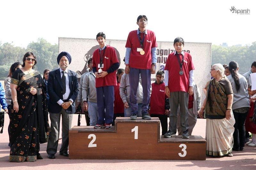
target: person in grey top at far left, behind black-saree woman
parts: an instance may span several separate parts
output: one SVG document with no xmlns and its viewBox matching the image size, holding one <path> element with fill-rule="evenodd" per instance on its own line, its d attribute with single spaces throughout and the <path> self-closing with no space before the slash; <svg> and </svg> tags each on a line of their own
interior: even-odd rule
<svg viewBox="0 0 256 170">
<path fill-rule="evenodd" d="M 10 108 L 11 108 L 11 101 L 12 101 L 12 90 L 11 90 L 11 87 L 10 87 L 11 79 L 12 79 L 12 74 L 17 69 L 20 69 L 20 68 L 22 68 L 20 62 L 13 63 L 12 66 L 10 67 L 10 69 L 9 69 L 8 76 L 4 80 L 5 99 L 6 99 L 6 103 L 7 103 L 7 109 L 8 109 L 9 118 L 10 118 L 10 113 L 11 113 L 11 109 Z M 10 124 L 8 126 L 8 134 L 9 134 L 9 138 L 10 138 Z M 10 143 L 8 144 L 8 146 L 11 146 Z"/>
</svg>

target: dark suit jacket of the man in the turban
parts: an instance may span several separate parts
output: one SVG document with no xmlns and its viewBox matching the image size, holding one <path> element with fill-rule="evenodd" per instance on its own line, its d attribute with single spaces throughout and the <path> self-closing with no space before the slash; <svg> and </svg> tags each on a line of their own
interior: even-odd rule
<svg viewBox="0 0 256 170">
<path fill-rule="evenodd" d="M 57 103 L 60 99 L 63 100 L 62 95 L 62 83 L 60 78 L 60 69 L 51 71 L 49 73 L 48 78 L 48 93 L 50 96 L 50 100 L 48 103 L 48 111 L 49 113 L 60 113 L 62 107 Z M 77 74 L 74 71 L 68 70 L 68 81 L 69 81 L 69 89 L 70 94 L 68 96 L 68 100 L 72 99 L 74 102 L 71 106 L 66 110 L 68 113 L 75 113 L 75 101 L 78 94 L 78 81 Z"/>
</svg>

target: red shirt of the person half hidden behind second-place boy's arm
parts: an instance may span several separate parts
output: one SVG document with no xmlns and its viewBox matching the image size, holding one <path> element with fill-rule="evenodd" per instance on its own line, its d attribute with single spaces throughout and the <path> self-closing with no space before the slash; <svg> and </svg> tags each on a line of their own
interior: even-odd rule
<svg viewBox="0 0 256 170">
<path fill-rule="evenodd" d="M 119 87 L 120 87 L 120 83 L 117 82 L 117 85 L 114 86 L 114 91 L 115 91 L 114 114 L 124 113 L 124 102 L 121 99 Z"/>
</svg>

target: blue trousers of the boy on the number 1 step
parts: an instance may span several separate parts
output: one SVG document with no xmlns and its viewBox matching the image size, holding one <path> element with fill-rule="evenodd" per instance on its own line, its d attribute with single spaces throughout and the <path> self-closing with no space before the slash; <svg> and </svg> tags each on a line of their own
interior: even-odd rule
<svg viewBox="0 0 256 170">
<path fill-rule="evenodd" d="M 137 69 L 130 68 L 129 81 L 130 81 L 130 102 L 132 106 L 132 114 L 138 114 L 137 103 L 137 89 L 139 86 L 139 79 L 141 77 L 141 85 L 143 89 L 142 100 L 142 115 L 148 113 L 148 105 L 150 102 L 150 86 L 151 86 L 151 72 L 150 69 Z"/>
</svg>

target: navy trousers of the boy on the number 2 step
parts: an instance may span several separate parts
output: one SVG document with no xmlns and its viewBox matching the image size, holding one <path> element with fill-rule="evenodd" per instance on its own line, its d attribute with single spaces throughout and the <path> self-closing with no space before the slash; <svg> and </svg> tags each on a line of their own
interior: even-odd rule
<svg viewBox="0 0 256 170">
<path fill-rule="evenodd" d="M 111 124 L 114 115 L 114 86 L 97 87 L 97 124 Z"/>
</svg>

